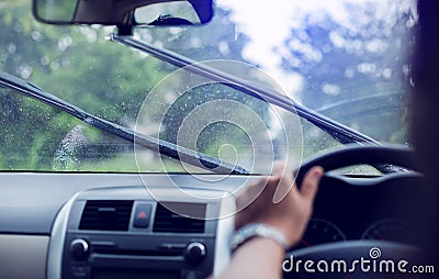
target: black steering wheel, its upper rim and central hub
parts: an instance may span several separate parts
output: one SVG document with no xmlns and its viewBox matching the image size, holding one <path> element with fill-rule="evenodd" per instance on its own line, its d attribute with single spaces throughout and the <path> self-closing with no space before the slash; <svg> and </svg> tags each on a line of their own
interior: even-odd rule
<svg viewBox="0 0 439 279">
<path fill-rule="evenodd" d="M 296 182 L 297 186 L 301 185 L 304 175 L 313 167 L 313 166 L 322 166 L 325 169 L 325 177 L 328 179 L 331 176 L 327 174 L 327 171 L 335 170 L 342 167 L 349 167 L 354 165 L 372 165 L 372 166 L 383 166 L 385 165 L 387 169 L 395 168 L 395 166 L 403 167 L 403 175 L 391 175 L 390 177 L 396 177 L 396 179 L 404 176 L 420 176 L 418 174 L 409 172 L 407 169 L 417 170 L 417 166 L 414 160 L 414 150 L 408 147 L 402 146 L 348 146 L 347 148 L 333 150 L 329 153 L 325 153 L 323 155 L 316 156 L 312 159 L 306 160 L 302 167 L 297 171 Z M 398 168 L 395 168 L 398 169 Z M 399 168 L 401 170 L 401 168 Z M 325 177 L 320 182 L 320 190 L 325 187 Z M 335 176 L 337 177 L 337 176 Z M 338 176 L 341 177 L 341 176 Z M 384 175 L 384 177 L 387 177 Z M 333 177 L 334 178 L 334 177 Z M 340 178 L 342 179 L 342 178 Z M 371 182 L 368 182 L 365 186 L 375 186 L 375 183 L 382 183 L 383 179 L 370 179 Z M 342 181 L 342 180 L 338 180 Z M 385 180 L 384 180 L 385 181 Z M 354 180 L 349 180 L 349 183 L 356 186 Z M 360 182 L 358 186 L 364 186 L 364 180 Z M 326 189 L 327 190 L 327 189 Z M 394 259 L 395 265 L 398 260 L 412 260 L 416 261 L 421 252 L 419 248 L 415 246 L 395 243 L 395 242 L 381 242 L 381 241 L 368 241 L 368 239 L 356 239 L 356 241 L 346 241 L 338 243 L 328 243 L 320 244 L 312 247 L 305 247 L 296 250 L 292 250 L 285 254 L 284 265 L 283 267 L 283 277 L 284 278 L 309 278 L 314 276 L 314 278 L 395 278 L 395 275 L 401 276 L 401 274 L 383 274 L 383 272 L 363 272 L 360 266 L 354 269 L 352 272 L 349 272 L 349 266 L 354 260 L 361 260 L 361 258 L 365 260 L 374 259 L 376 255 L 372 255 L 372 253 L 383 253 L 385 258 Z M 379 258 L 375 258 L 379 260 Z M 306 260 L 312 260 L 314 263 L 314 272 L 309 272 L 305 270 Z M 340 260 L 345 260 L 348 264 L 348 270 L 344 272 L 342 270 L 335 270 L 335 272 L 318 272 L 316 270 L 316 264 L 319 260 L 324 260 L 330 264 L 336 263 L 336 265 L 340 265 Z M 294 263 L 292 263 L 294 261 Z M 300 267 L 297 267 L 301 265 Z M 380 263 L 380 261 L 379 261 Z M 360 263 L 358 263 L 360 264 Z M 290 266 L 289 266 L 290 265 Z M 323 266 L 324 267 L 324 266 Z M 311 268 L 311 269 L 313 269 Z M 341 267 L 342 268 L 342 267 Z M 291 269 L 291 270 L 290 270 Z M 334 271 L 334 270 L 333 270 Z M 338 272 L 337 272 L 338 271 Z M 389 277 L 391 276 L 391 277 Z M 392 277 L 393 276 L 393 277 Z M 398 278 L 398 277 L 397 277 Z"/>
</svg>

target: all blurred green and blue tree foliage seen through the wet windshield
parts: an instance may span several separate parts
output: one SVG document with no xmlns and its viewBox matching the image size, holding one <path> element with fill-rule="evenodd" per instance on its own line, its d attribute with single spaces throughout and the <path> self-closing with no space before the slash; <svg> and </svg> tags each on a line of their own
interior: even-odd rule
<svg viewBox="0 0 439 279">
<path fill-rule="evenodd" d="M 135 35 L 195 60 L 246 62 L 243 49 L 251 40 L 235 32 L 232 19 L 230 11 L 216 10 L 212 23 L 190 32 L 185 32 L 188 27 L 145 29 L 136 31 Z M 291 30 L 291 37 L 284 42 L 290 57 L 283 59 L 280 70 L 304 77 L 300 97 L 305 105 L 379 141 L 405 143 L 408 113 L 404 109 L 402 80 L 406 77 L 407 65 L 397 55 L 405 54 L 401 47 L 410 35 L 408 20 L 409 14 L 403 14 L 391 26 L 380 21 L 369 22 L 359 33 L 330 19 L 309 20 L 305 30 Z M 150 89 L 176 70 L 151 56 L 109 42 L 105 37 L 112 32 L 111 27 L 38 23 L 32 16 L 30 0 L 0 0 L 0 24 L 1 71 L 29 80 L 94 115 L 128 127 L 134 127 Z M 390 30 L 389 34 L 380 32 L 384 27 Z M 335 33 L 341 34 L 348 46 L 335 45 L 330 38 Z M 322 57 L 313 60 L 303 49 L 294 48 L 301 40 L 301 44 L 317 49 Z M 384 53 L 349 48 L 357 41 L 365 45 L 376 40 L 387 43 Z M 294 64 L 297 60 L 300 64 Z M 166 96 L 160 98 L 162 100 L 157 101 L 166 101 Z M 262 101 L 225 86 L 207 85 L 173 103 L 161 123 L 166 129 L 160 137 L 176 143 L 178 129 L 188 113 L 212 100 L 240 102 L 270 122 L 268 107 Z M 148 116 L 155 119 L 155 114 L 160 113 L 159 105 L 151 105 Z M 0 169 L 136 171 L 137 168 L 131 143 L 5 88 L 0 88 Z M 245 129 L 246 133 L 255 132 L 251 125 Z M 304 157 L 339 146 L 328 134 L 305 121 L 303 131 Z M 216 123 L 193 136 L 198 136 L 198 150 L 216 157 L 228 144 L 235 146 L 237 154 L 252 152 L 255 146 L 246 133 L 238 126 Z M 224 149 L 223 155 L 233 159 L 235 150 Z M 146 169 L 162 171 L 155 156 Z M 181 166 L 166 159 L 165 169 L 178 171 Z"/>
</svg>

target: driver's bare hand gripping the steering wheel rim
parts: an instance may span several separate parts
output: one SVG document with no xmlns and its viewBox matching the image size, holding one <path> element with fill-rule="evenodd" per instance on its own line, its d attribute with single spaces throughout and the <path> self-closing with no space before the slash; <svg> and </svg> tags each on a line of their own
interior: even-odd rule
<svg viewBox="0 0 439 279">
<path fill-rule="evenodd" d="M 290 245 L 296 244 L 309 221 L 323 174 L 322 167 L 313 167 L 306 172 L 299 190 L 293 172 L 288 170 L 284 164 L 277 163 L 271 177 L 249 185 L 238 194 L 236 205 L 237 209 L 241 209 L 251 201 L 249 199 L 255 199 L 255 194 L 262 191 L 254 202 L 237 213 L 235 228 L 249 223 L 264 223 L 283 233 Z M 273 199 L 277 191 L 285 193 L 278 203 Z"/>
</svg>

